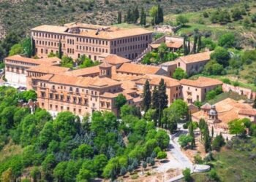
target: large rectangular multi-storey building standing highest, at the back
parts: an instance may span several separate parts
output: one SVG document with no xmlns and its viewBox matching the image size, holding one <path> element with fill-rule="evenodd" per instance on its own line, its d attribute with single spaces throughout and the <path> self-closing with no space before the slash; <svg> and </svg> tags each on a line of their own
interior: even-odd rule
<svg viewBox="0 0 256 182">
<path fill-rule="evenodd" d="M 152 41 L 152 31 L 143 28 L 116 28 L 112 26 L 69 23 L 64 26 L 40 25 L 32 28 L 36 54 L 47 58 L 50 52 L 80 58 L 86 55 L 91 60 L 102 60 L 109 54 L 135 59 Z"/>
</svg>

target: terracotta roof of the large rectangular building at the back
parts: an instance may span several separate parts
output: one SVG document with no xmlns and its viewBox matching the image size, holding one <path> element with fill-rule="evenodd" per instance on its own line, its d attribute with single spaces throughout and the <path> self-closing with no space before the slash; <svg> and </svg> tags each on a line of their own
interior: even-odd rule
<svg viewBox="0 0 256 182">
<path fill-rule="evenodd" d="M 53 33 L 64 33 L 69 35 L 74 35 L 75 33 L 68 33 L 69 28 L 84 28 L 86 31 L 81 31 L 79 34 L 75 34 L 78 36 L 99 38 L 99 39 L 118 39 L 127 36 L 139 36 L 141 34 L 150 34 L 152 31 L 148 31 L 143 28 L 116 28 L 116 27 L 108 27 L 106 31 L 99 31 L 97 33 L 97 28 L 104 28 L 104 26 L 100 25 L 89 25 L 83 23 L 77 23 L 76 25 L 66 24 L 65 26 L 56 26 L 56 25 L 40 25 L 35 28 L 32 28 L 32 31 L 45 31 L 45 32 L 53 32 Z"/>
</svg>

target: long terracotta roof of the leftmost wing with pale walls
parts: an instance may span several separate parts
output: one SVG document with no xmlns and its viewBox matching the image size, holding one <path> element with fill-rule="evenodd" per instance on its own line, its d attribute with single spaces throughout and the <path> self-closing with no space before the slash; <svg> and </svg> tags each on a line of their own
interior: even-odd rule
<svg viewBox="0 0 256 182">
<path fill-rule="evenodd" d="M 53 64 L 58 64 L 60 62 L 60 59 L 56 58 L 56 57 L 55 58 L 34 59 L 34 58 L 22 57 L 20 55 L 12 55 L 7 58 L 4 58 L 4 60 L 15 60 L 15 61 L 22 62 L 22 63 L 33 63 L 33 64 L 37 64 L 37 65 L 41 65 L 41 64 L 53 65 Z"/>
</svg>

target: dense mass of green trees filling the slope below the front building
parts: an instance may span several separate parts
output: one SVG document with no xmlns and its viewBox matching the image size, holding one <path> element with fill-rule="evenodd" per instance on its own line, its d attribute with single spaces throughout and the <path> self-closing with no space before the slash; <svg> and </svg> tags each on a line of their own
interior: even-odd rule
<svg viewBox="0 0 256 182">
<path fill-rule="evenodd" d="M 89 122 L 89 116 L 80 119 L 62 112 L 53 119 L 45 110 L 30 114 L 17 106 L 18 100 L 30 98 L 35 98 L 32 91 L 0 87 L 0 149 L 10 142 L 22 146 L 20 154 L 1 159 L 2 180 L 19 178 L 25 170 L 36 180 L 114 179 L 165 157 L 169 136 L 156 130 L 154 122 L 140 119 L 133 106 L 121 106 L 121 120 L 111 112 L 96 111 Z"/>
</svg>

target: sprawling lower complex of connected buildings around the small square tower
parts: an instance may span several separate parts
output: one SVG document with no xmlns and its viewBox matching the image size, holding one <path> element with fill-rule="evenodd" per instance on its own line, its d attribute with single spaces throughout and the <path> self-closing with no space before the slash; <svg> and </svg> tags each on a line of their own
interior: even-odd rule
<svg viewBox="0 0 256 182">
<path fill-rule="evenodd" d="M 154 90 L 160 80 L 164 79 L 168 105 L 179 98 L 184 98 L 188 103 L 203 100 L 204 94 L 201 92 L 222 84 L 215 79 L 208 82 L 207 78 L 191 81 L 198 84 L 201 79 L 205 82 L 207 79 L 208 83 L 194 85 L 198 87 L 199 96 L 188 100 L 187 95 L 184 94 L 187 92 L 187 84 L 184 80 L 180 82 L 170 78 L 161 66 L 130 63 L 131 60 L 118 55 L 108 55 L 99 66 L 75 70 L 59 66 L 58 58 L 31 59 L 17 55 L 5 58 L 4 61 L 8 82 L 15 82 L 8 74 L 15 74 L 15 78 L 22 79 L 28 90 L 33 89 L 37 92 L 39 106 L 53 115 L 60 111 L 72 111 L 80 116 L 91 114 L 93 111 L 116 113 L 115 99 L 118 94 L 123 94 L 128 104 L 140 107 L 146 80 L 151 90 Z M 15 70 L 23 70 L 23 72 L 17 74 Z M 194 87 L 191 86 L 191 90 Z"/>
</svg>

